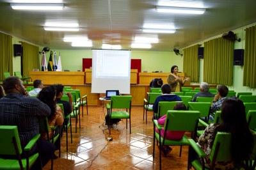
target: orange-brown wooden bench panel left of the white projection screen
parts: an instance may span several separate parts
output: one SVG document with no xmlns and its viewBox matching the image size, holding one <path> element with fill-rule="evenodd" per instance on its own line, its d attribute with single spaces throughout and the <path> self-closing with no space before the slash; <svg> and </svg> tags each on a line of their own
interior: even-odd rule
<svg viewBox="0 0 256 170">
<path fill-rule="evenodd" d="M 84 72 L 29 72 L 29 77 L 41 79 L 44 84 L 84 84 Z"/>
</svg>

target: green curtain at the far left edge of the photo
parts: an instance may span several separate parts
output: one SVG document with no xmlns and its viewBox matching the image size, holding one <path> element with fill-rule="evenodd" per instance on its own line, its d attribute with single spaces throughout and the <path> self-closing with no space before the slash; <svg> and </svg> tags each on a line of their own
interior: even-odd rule
<svg viewBox="0 0 256 170">
<path fill-rule="evenodd" d="M 4 79 L 4 72 L 13 73 L 12 49 L 12 36 L 0 33 L 0 80 Z"/>
</svg>

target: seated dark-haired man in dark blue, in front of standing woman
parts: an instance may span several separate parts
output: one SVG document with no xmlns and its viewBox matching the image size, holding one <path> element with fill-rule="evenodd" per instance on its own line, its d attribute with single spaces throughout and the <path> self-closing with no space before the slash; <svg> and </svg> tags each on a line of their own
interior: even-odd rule
<svg viewBox="0 0 256 170">
<path fill-rule="evenodd" d="M 161 87 L 161 90 L 163 92 L 163 95 L 160 95 L 159 97 L 156 98 L 156 101 L 154 102 L 154 105 L 153 105 L 154 113 L 158 112 L 158 103 L 161 101 L 168 101 L 168 102 L 181 101 L 181 98 L 179 96 L 171 94 L 171 87 L 169 84 L 163 84 L 163 86 Z"/>
</svg>

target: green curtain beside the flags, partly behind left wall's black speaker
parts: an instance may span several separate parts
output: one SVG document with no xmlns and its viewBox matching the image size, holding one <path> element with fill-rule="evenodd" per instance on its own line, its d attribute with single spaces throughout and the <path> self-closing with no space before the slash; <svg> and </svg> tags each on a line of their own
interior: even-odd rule
<svg viewBox="0 0 256 170">
<path fill-rule="evenodd" d="M 22 42 L 22 67 L 23 77 L 28 77 L 29 71 L 32 71 L 34 68 L 40 68 L 39 47 Z"/>
</svg>

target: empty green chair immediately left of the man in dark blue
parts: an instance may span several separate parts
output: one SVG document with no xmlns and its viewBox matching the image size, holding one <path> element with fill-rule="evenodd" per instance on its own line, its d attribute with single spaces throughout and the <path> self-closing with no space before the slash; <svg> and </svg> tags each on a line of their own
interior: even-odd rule
<svg viewBox="0 0 256 170">
<path fill-rule="evenodd" d="M 147 93 L 147 99 L 144 98 L 144 109 L 143 109 L 143 121 L 144 121 L 144 115 L 146 111 L 146 123 L 147 123 L 147 112 L 153 111 L 153 104 L 156 101 L 156 98 L 159 97 L 161 93 Z"/>
</svg>

